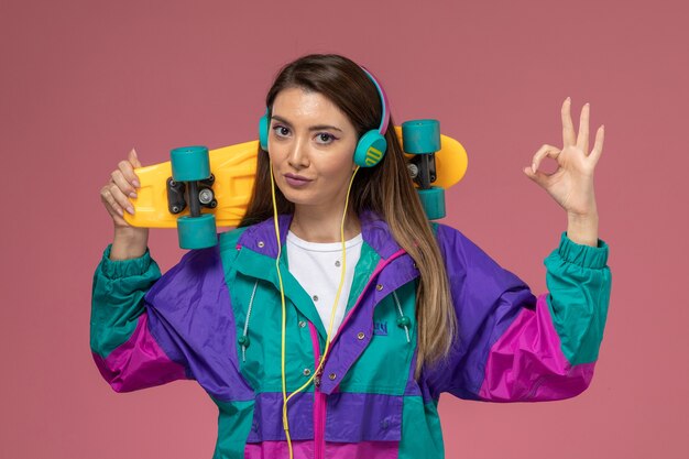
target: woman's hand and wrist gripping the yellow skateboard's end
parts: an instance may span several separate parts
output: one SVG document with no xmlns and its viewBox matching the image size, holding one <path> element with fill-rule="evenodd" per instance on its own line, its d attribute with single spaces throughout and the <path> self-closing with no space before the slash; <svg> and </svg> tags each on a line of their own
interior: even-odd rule
<svg viewBox="0 0 689 459">
<path fill-rule="evenodd" d="M 100 200 L 114 225 L 114 239 L 110 251 L 111 260 L 127 260 L 145 253 L 149 242 L 149 229 L 132 227 L 124 220 L 124 212 L 134 214 L 129 198 L 136 197 L 139 177 L 134 168 L 141 167 L 136 151 L 132 149 L 128 159 L 118 164 L 110 174 L 110 181 L 100 188 Z"/>
</svg>

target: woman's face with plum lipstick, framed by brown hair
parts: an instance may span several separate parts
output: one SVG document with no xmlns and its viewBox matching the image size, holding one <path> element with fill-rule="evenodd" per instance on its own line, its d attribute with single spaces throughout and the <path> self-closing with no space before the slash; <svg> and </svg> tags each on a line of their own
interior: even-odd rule
<svg viewBox="0 0 689 459">
<path fill-rule="evenodd" d="M 282 90 L 269 132 L 275 184 L 297 207 L 340 208 L 356 168 L 358 140 L 347 116 L 321 94 Z"/>
</svg>

